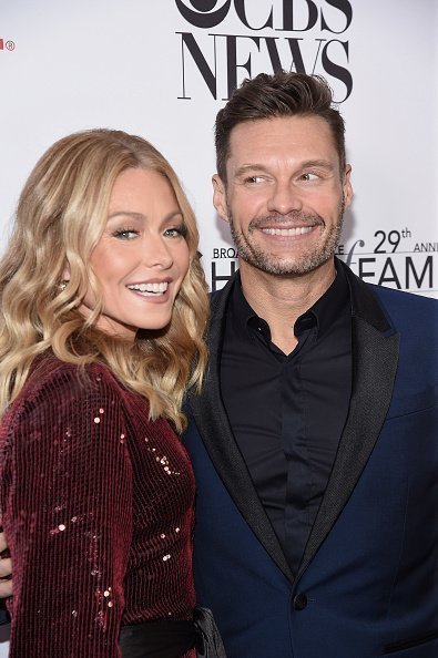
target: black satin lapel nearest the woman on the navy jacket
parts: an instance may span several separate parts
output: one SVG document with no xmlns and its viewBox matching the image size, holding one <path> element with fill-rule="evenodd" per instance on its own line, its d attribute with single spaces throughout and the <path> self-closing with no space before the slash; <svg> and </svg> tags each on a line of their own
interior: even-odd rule
<svg viewBox="0 0 438 658">
<path fill-rule="evenodd" d="M 247 466 L 237 448 L 221 398 L 220 354 L 226 295 L 214 308 L 208 332 L 210 366 L 200 397 L 190 395 L 189 405 L 198 432 L 222 482 L 252 531 L 284 575 L 293 579 L 283 549 L 258 498 Z"/>
</svg>

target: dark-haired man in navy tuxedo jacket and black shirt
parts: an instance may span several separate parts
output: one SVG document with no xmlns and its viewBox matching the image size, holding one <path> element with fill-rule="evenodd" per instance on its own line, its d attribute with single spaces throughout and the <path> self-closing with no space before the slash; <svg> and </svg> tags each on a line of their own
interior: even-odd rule
<svg viewBox="0 0 438 658">
<path fill-rule="evenodd" d="M 438 304 L 334 256 L 352 202 L 323 80 L 261 74 L 216 120 L 240 271 L 190 399 L 195 576 L 230 658 L 438 656 Z"/>
</svg>

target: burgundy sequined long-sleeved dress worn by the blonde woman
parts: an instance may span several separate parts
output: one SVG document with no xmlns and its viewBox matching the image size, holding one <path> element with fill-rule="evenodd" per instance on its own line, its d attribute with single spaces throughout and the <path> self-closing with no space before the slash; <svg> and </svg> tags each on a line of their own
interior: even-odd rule
<svg viewBox="0 0 438 658">
<path fill-rule="evenodd" d="M 186 452 L 105 367 L 86 373 L 43 359 L 1 425 L 11 658 L 115 658 L 121 625 L 195 606 Z"/>
</svg>

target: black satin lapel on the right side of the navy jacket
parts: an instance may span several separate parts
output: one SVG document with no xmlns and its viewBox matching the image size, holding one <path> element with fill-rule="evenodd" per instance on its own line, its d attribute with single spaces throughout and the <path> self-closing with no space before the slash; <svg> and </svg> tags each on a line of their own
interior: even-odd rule
<svg viewBox="0 0 438 658">
<path fill-rule="evenodd" d="M 349 412 L 298 575 L 332 530 L 377 441 L 391 400 L 398 347 L 398 335 L 385 336 L 366 320 L 353 318 L 354 374 Z"/>
</svg>

